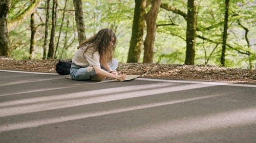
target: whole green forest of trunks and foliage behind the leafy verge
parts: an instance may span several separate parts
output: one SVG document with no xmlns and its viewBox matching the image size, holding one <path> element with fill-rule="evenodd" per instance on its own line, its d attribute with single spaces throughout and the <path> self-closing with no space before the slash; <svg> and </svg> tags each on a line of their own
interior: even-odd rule
<svg viewBox="0 0 256 143">
<path fill-rule="evenodd" d="M 256 68 L 253 0 L 2 0 L 0 53 L 71 59 L 102 28 L 122 63 Z"/>
</svg>

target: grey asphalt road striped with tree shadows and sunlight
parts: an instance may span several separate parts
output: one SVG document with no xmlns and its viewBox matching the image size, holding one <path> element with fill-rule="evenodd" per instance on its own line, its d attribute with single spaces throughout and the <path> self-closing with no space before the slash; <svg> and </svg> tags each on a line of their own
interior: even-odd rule
<svg viewBox="0 0 256 143">
<path fill-rule="evenodd" d="M 0 142 L 256 142 L 256 85 L 0 70 Z"/>
</svg>

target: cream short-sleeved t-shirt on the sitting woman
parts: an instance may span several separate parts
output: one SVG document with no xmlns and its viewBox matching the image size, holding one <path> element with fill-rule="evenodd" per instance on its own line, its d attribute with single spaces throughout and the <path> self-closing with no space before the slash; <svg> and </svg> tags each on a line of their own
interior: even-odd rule
<svg viewBox="0 0 256 143">
<path fill-rule="evenodd" d="M 98 51 L 94 52 L 94 49 L 90 48 L 90 49 L 87 49 L 86 53 L 84 53 L 86 49 L 87 49 L 86 46 L 82 46 L 81 48 L 79 48 L 78 51 L 75 53 L 74 57 L 72 58 L 72 62 L 74 62 L 76 65 L 81 67 L 100 66 L 99 52 Z"/>
</svg>

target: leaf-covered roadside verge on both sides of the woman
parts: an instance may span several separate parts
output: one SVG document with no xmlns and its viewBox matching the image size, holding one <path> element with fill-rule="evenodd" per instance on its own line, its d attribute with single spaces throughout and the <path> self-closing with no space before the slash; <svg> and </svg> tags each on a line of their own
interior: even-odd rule
<svg viewBox="0 0 256 143">
<path fill-rule="evenodd" d="M 56 73 L 55 66 L 58 61 L 13 60 L 1 57 L 0 69 Z M 139 74 L 140 77 L 256 84 L 256 70 L 218 66 L 119 63 L 117 71 L 127 75 Z"/>
</svg>

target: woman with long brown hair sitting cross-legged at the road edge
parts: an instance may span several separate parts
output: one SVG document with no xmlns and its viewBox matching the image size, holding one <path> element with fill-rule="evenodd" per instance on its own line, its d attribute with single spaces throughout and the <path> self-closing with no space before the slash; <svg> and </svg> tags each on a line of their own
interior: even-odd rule
<svg viewBox="0 0 256 143">
<path fill-rule="evenodd" d="M 105 78 L 125 79 L 126 75 L 118 75 L 118 62 L 112 59 L 115 47 L 116 35 L 110 28 L 104 28 L 93 37 L 84 40 L 72 59 L 71 78 L 94 81 L 102 81 Z"/>
</svg>

